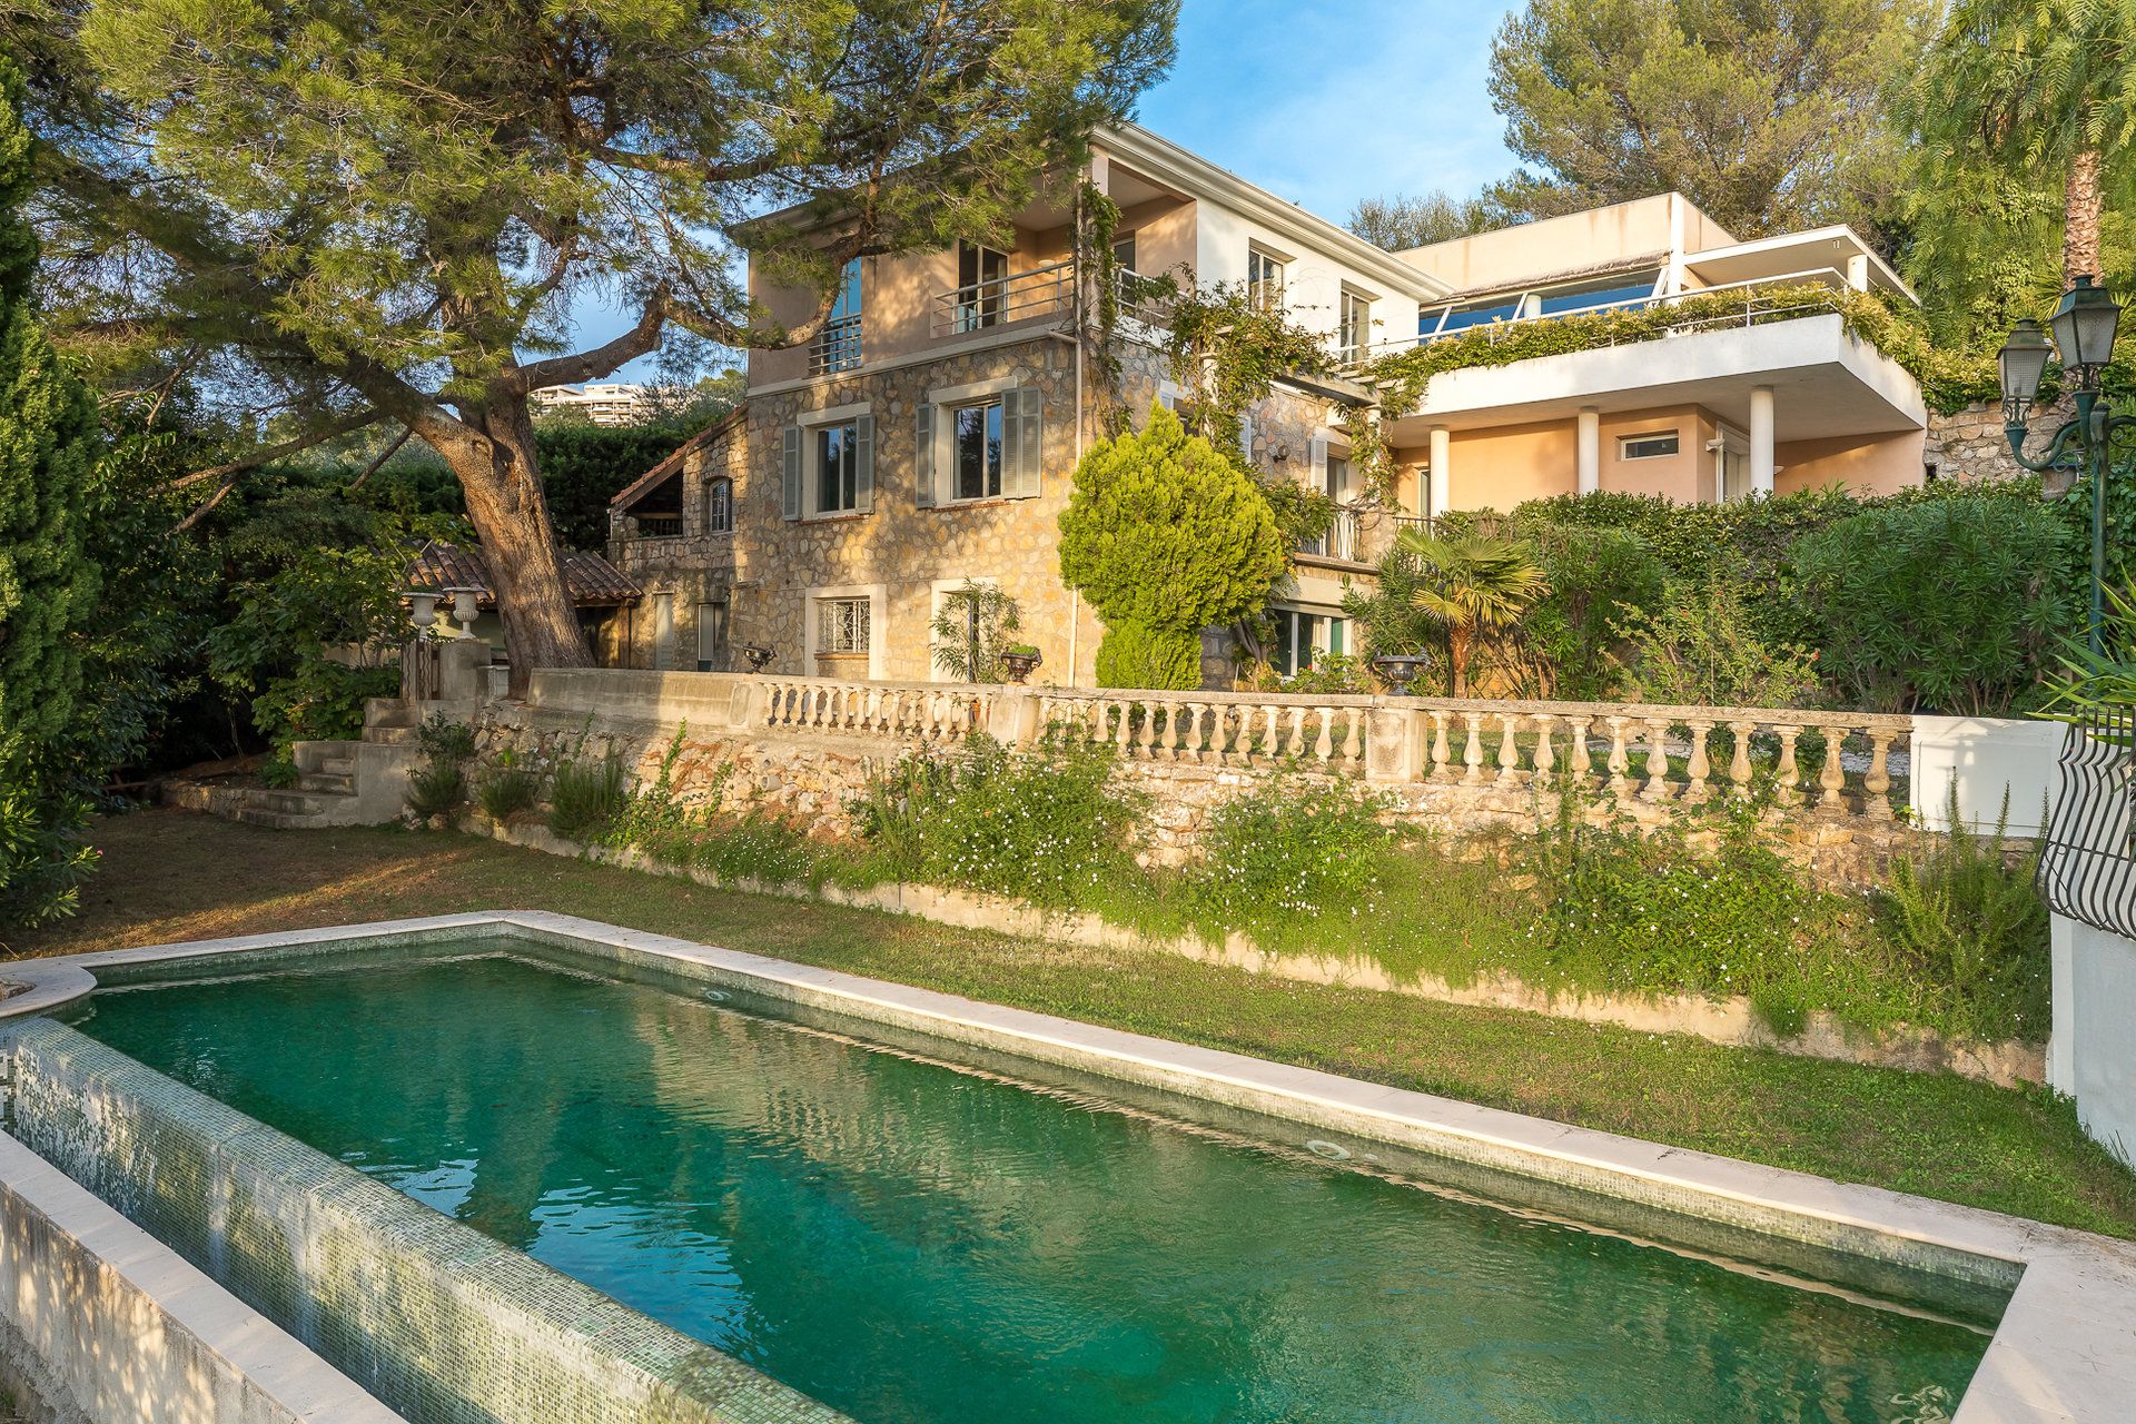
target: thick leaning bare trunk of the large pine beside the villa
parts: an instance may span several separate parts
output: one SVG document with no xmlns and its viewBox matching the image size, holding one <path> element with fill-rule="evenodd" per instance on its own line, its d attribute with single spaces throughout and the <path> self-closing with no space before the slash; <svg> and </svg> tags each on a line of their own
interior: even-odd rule
<svg viewBox="0 0 2136 1424">
<path fill-rule="evenodd" d="M 564 587 L 564 555 L 543 500 L 525 401 L 468 412 L 468 423 L 487 440 L 470 440 L 444 457 L 459 476 L 468 519 L 483 542 L 513 658 L 513 696 L 521 696 L 534 668 L 585 668 L 594 658 Z"/>
</svg>

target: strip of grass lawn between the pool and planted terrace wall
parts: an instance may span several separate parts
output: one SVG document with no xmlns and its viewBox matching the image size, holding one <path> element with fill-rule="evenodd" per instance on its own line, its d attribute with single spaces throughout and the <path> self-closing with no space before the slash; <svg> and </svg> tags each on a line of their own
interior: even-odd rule
<svg viewBox="0 0 2136 1424">
<path fill-rule="evenodd" d="M 2136 1238 L 2136 1174 L 2044 1091 L 955 931 L 446 833 L 143 811 L 96 841 L 81 916 L 17 937 L 17 954 L 553 909 Z"/>
</svg>

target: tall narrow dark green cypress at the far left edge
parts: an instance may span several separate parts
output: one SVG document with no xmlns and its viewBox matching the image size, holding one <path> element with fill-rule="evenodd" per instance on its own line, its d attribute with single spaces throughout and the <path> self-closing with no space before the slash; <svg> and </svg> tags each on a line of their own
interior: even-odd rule
<svg viewBox="0 0 2136 1424">
<path fill-rule="evenodd" d="M 98 587 L 83 549 L 96 401 L 36 322 L 21 96 L 19 70 L 0 58 L 0 929 L 64 914 L 88 863 L 66 747 L 81 694 L 75 634 Z"/>
</svg>

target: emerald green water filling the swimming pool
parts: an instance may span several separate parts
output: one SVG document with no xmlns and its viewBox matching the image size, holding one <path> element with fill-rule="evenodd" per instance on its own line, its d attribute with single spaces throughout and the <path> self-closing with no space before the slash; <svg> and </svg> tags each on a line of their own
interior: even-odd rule
<svg viewBox="0 0 2136 1424">
<path fill-rule="evenodd" d="M 502 954 L 79 1027 L 863 1424 L 1944 1420 L 1978 1328 Z"/>
</svg>

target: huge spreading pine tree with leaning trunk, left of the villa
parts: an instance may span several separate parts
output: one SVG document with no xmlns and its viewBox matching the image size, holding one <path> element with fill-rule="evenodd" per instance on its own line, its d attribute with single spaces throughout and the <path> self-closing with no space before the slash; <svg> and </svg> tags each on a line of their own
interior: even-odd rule
<svg viewBox="0 0 2136 1424">
<path fill-rule="evenodd" d="M 587 662 L 528 397 L 673 329 L 805 342 L 857 256 L 998 235 L 1171 58 L 1175 0 L 30 0 L 53 284 L 88 342 L 235 352 L 295 433 L 451 465 L 513 666 Z M 767 220 L 767 213 L 803 220 Z M 824 237 L 829 233 L 829 237 Z M 739 256 L 814 286 L 752 305 Z M 626 329 L 572 348 L 575 301 Z"/>
</svg>

